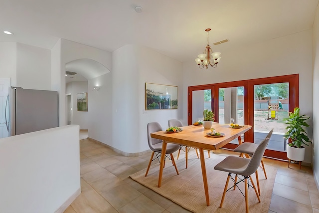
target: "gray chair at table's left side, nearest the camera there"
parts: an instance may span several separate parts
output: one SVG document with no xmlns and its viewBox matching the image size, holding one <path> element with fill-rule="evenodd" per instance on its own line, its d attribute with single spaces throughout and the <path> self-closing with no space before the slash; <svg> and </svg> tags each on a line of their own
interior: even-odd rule
<svg viewBox="0 0 319 213">
<path fill-rule="evenodd" d="M 149 173 L 152 161 L 158 159 L 159 162 L 160 162 L 161 148 L 162 148 L 163 141 L 160 140 L 160 139 L 156 139 L 156 138 L 152 138 L 151 137 L 151 133 L 158 132 L 158 131 L 162 131 L 162 128 L 161 128 L 161 126 L 160 126 L 160 124 L 158 122 L 148 123 L 148 143 L 149 143 L 149 147 L 153 151 L 153 153 L 152 153 L 152 156 L 151 156 L 151 159 L 150 159 L 149 166 L 148 166 L 148 169 L 146 171 L 145 177 Z M 175 164 L 174 157 L 173 157 L 172 153 L 174 153 L 177 150 L 179 150 L 179 148 L 180 148 L 180 145 L 178 145 L 178 144 L 167 143 L 166 152 L 165 152 L 165 156 L 164 156 L 164 165 L 163 165 L 163 167 L 165 167 L 165 160 L 166 160 L 166 158 L 169 159 L 169 157 L 168 157 L 168 155 L 169 155 L 170 159 L 171 159 L 171 162 L 172 162 L 173 166 L 175 167 L 177 175 L 178 175 L 178 170 L 177 170 L 177 167 L 176 167 L 176 164 Z M 156 154 L 156 157 L 154 157 L 154 154 Z"/>
</svg>

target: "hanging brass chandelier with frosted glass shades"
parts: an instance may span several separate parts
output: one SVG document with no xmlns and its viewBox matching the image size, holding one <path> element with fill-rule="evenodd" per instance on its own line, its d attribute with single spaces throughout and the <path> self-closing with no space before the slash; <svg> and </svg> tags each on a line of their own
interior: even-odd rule
<svg viewBox="0 0 319 213">
<path fill-rule="evenodd" d="M 206 46 L 206 49 L 204 50 L 204 53 L 197 55 L 198 58 L 195 59 L 199 68 L 206 67 L 207 69 L 208 65 L 210 65 L 211 67 L 216 67 L 221 59 L 221 57 L 219 57 L 220 52 L 213 52 L 213 50 L 209 46 L 208 32 L 210 30 L 211 30 L 210 28 L 205 29 L 205 31 L 207 32 L 207 46 Z"/>
</svg>

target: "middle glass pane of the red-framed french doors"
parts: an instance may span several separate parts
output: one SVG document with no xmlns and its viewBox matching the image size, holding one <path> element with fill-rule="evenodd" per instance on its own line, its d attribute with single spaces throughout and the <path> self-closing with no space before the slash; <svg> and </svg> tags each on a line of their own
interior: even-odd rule
<svg viewBox="0 0 319 213">
<path fill-rule="evenodd" d="M 218 94 L 219 124 L 244 125 L 244 87 L 220 88 Z M 238 139 L 230 143 L 238 144 Z"/>
</svg>

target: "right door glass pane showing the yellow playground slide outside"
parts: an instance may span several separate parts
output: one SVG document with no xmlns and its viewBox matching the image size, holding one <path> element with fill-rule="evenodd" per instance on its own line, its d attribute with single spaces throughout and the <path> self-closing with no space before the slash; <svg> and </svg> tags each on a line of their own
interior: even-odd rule
<svg viewBox="0 0 319 213">
<path fill-rule="evenodd" d="M 289 117 L 289 83 L 261 84 L 254 86 L 254 142 L 259 144 L 274 128 L 267 146 L 269 150 L 285 151 Z"/>
</svg>

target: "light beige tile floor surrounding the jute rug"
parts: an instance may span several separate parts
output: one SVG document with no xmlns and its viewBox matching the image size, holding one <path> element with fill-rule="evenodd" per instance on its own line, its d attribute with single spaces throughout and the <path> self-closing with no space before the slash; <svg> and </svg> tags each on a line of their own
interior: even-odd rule
<svg viewBox="0 0 319 213">
<path fill-rule="evenodd" d="M 214 153 L 237 155 L 223 149 Z M 65 213 L 188 213 L 129 178 L 147 168 L 150 157 L 151 151 L 139 157 L 125 157 L 102 144 L 80 140 L 82 192 Z M 319 213 L 319 192 L 310 167 L 288 168 L 287 162 L 267 158 L 264 163 L 278 168 L 269 213 Z"/>
</svg>

